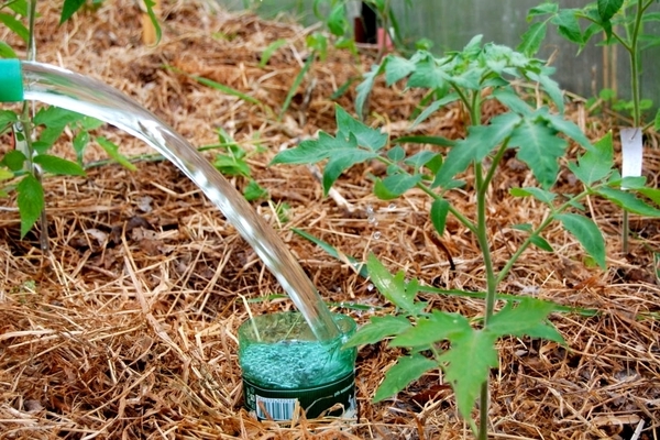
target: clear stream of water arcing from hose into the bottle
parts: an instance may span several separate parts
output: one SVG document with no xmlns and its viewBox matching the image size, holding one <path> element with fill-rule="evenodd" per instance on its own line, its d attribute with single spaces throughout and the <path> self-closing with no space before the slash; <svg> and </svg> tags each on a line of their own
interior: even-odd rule
<svg viewBox="0 0 660 440">
<path fill-rule="evenodd" d="M 134 100 L 94 78 L 55 66 L 22 64 L 24 99 L 99 119 L 146 142 L 176 165 L 222 211 L 275 275 L 321 340 L 340 336 L 316 287 L 275 231 L 199 152 Z"/>
</svg>

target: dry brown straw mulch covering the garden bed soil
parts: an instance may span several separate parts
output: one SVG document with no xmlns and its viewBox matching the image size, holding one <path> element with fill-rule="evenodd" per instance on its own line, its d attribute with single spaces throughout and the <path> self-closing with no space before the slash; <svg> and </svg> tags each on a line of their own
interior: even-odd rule
<svg viewBox="0 0 660 440">
<path fill-rule="evenodd" d="M 254 205 L 278 230 L 323 298 L 373 309 L 337 307 L 364 323 L 392 308 L 349 265 L 292 232 L 300 228 L 358 258 L 374 252 L 393 271 L 449 288 L 483 288 L 474 238 L 457 222 L 440 240 L 428 219 L 428 200 L 410 193 L 394 204 L 371 193 L 377 166 L 341 177 L 338 198 L 323 198 L 306 167 L 267 166 L 274 154 L 319 129 L 333 131 L 329 98 L 369 68 L 343 52 L 314 64 L 282 122 L 282 108 L 305 57 L 311 32 L 287 22 L 229 14 L 212 3 L 173 2 L 163 9 L 164 40 L 141 42 L 140 12 L 131 1 L 106 2 L 57 26 L 59 2 L 40 2 L 38 59 L 100 78 L 133 96 L 196 145 L 217 142 L 223 128 L 251 154 L 255 179 L 271 194 Z M 53 9 L 51 9 L 53 8 Z M 10 36 L 2 35 L 2 38 Z M 286 38 L 265 67 L 260 55 Z M 13 41 L 13 40 L 12 40 Z M 20 42 L 15 47 L 21 48 Z M 164 66 L 200 75 L 257 98 L 254 106 L 190 80 Z M 418 96 L 378 85 L 369 122 L 403 133 Z M 351 109 L 354 85 L 339 99 Z M 492 109 L 497 111 L 497 109 Z M 610 124 L 590 117 L 580 100 L 569 116 L 592 139 Z M 487 116 L 486 116 L 487 117 Z M 419 133 L 458 138 L 461 113 L 450 109 Z M 125 155 L 150 153 L 111 128 L 99 130 Z M 65 138 L 70 133 L 66 133 Z M 57 145 L 70 156 L 70 139 Z M 9 148 L 3 138 L 1 148 Z M 263 148 L 260 150 L 258 147 Z M 86 160 L 105 158 L 90 148 Z M 209 153 L 213 158 L 213 153 Z M 660 155 L 648 150 L 646 173 L 656 184 Z M 246 300 L 282 288 L 219 211 L 169 163 L 141 161 L 131 173 L 118 165 L 92 167 L 86 178 L 45 182 L 51 253 L 37 232 L 19 239 L 15 200 L 0 208 L 0 438 L 2 439 L 452 439 L 469 438 L 451 391 L 437 372 L 395 398 L 371 398 L 396 350 L 364 346 L 358 360 L 360 418 L 257 422 L 242 409 L 237 328 Z M 233 182 L 240 188 L 242 178 Z M 494 257 L 506 261 L 519 235 L 508 226 L 538 222 L 542 207 L 506 197 L 530 176 L 506 162 L 492 191 Z M 560 185 L 574 189 L 562 173 Z M 455 194 L 466 210 L 470 193 Z M 287 204 L 287 221 L 276 206 Z M 372 210 L 374 215 L 367 215 Z M 503 292 L 532 294 L 563 305 L 595 308 L 596 317 L 558 315 L 552 320 L 568 348 L 530 339 L 501 342 L 492 374 L 492 438 L 658 439 L 660 437 L 660 289 L 653 252 L 659 223 L 631 217 L 630 252 L 619 240 L 622 213 L 590 200 L 607 234 L 608 270 L 586 264 L 574 240 L 548 231 L 557 252 L 527 251 Z M 372 220 L 370 221 L 370 218 Z M 439 244 L 440 243 L 440 244 Z M 446 249 L 446 250 L 444 250 Z M 446 252 L 447 251 L 447 252 Z M 455 268 L 450 267 L 450 258 Z M 477 300 L 426 297 L 433 307 L 479 315 Z M 292 309 L 286 299 L 250 302 L 252 314 Z"/>
</svg>

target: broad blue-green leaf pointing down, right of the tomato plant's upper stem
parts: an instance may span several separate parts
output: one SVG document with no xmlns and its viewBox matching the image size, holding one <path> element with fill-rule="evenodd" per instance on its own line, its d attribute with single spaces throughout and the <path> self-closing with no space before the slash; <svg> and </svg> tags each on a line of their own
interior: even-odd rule
<svg viewBox="0 0 660 440">
<path fill-rule="evenodd" d="M 525 118 L 517 125 L 509 140 L 510 147 L 518 147 L 517 157 L 531 169 L 543 188 L 557 180 L 559 157 L 563 156 L 566 142 L 557 136 L 556 131 L 532 118 Z"/>
</svg>

